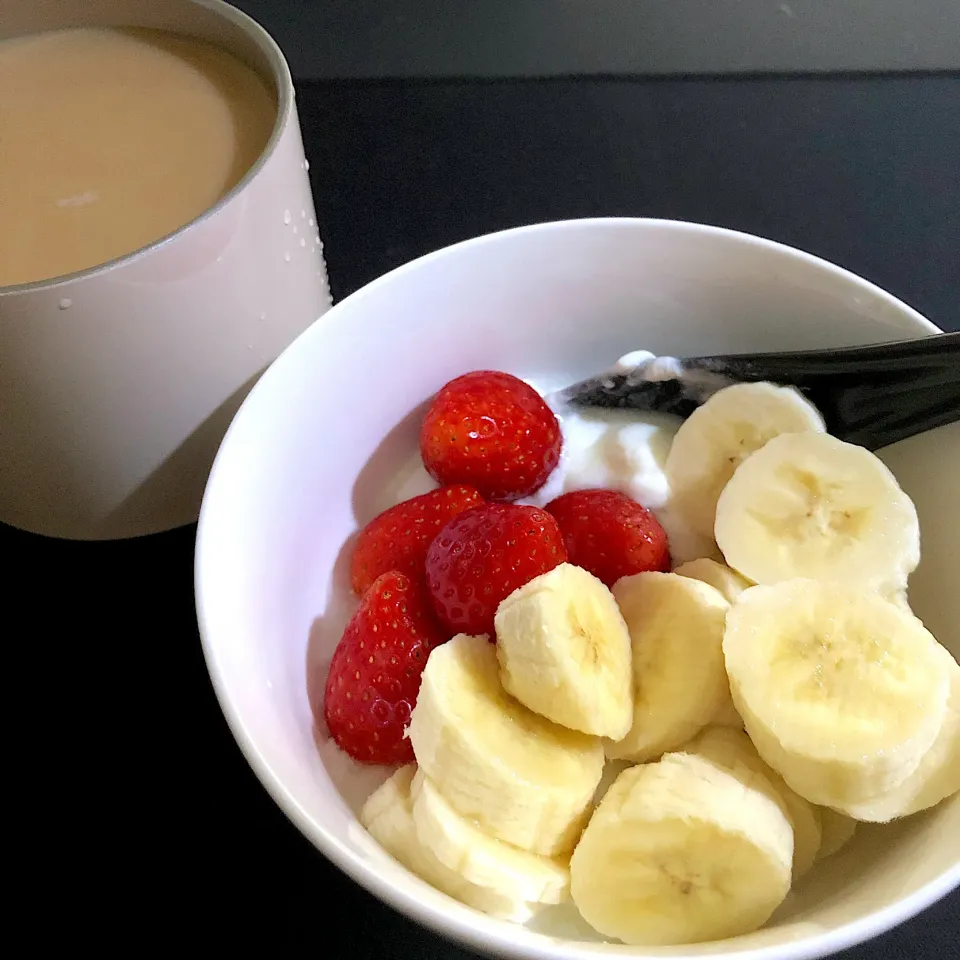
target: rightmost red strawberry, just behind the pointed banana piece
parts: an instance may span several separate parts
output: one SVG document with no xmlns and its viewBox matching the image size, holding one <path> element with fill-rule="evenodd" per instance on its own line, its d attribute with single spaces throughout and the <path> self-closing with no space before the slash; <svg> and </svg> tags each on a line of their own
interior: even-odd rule
<svg viewBox="0 0 960 960">
<path fill-rule="evenodd" d="M 547 504 L 570 562 L 612 587 L 621 577 L 670 569 L 667 535 L 657 518 L 613 490 L 576 490 Z"/>
</svg>

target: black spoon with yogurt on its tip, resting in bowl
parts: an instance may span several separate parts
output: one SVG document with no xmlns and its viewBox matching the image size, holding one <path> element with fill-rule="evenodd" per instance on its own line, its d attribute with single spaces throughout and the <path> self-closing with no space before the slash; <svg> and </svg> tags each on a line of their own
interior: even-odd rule
<svg viewBox="0 0 960 960">
<path fill-rule="evenodd" d="M 648 362 L 601 374 L 560 397 L 579 407 L 688 417 L 725 386 L 769 381 L 798 389 L 830 433 L 868 450 L 960 420 L 960 333 L 834 350 L 691 357 L 673 366 Z"/>
</svg>

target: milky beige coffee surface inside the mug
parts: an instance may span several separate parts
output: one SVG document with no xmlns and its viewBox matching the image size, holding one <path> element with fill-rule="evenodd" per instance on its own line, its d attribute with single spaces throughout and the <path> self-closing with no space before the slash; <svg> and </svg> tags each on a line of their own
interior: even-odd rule
<svg viewBox="0 0 960 960">
<path fill-rule="evenodd" d="M 140 29 L 0 42 L 0 287 L 173 233 L 263 152 L 274 90 L 232 54 Z"/>
</svg>

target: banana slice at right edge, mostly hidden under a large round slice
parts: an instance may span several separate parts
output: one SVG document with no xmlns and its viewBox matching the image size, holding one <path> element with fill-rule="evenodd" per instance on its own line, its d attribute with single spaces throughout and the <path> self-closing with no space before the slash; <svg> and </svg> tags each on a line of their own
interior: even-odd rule
<svg viewBox="0 0 960 960">
<path fill-rule="evenodd" d="M 887 823 L 936 806 L 960 792 L 960 665 L 939 647 L 943 672 L 950 679 L 947 715 L 920 765 L 898 787 L 875 800 L 852 803 L 845 812 L 857 820 Z"/>
</svg>

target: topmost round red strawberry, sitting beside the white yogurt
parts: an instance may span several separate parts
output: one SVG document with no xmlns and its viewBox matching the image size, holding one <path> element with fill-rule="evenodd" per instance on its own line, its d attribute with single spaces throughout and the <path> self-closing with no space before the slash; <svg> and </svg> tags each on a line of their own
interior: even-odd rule
<svg viewBox="0 0 960 960">
<path fill-rule="evenodd" d="M 478 370 L 437 394 L 420 431 L 420 454 L 438 483 L 469 483 L 488 500 L 517 500 L 543 486 L 562 439 L 533 387 Z"/>
</svg>

